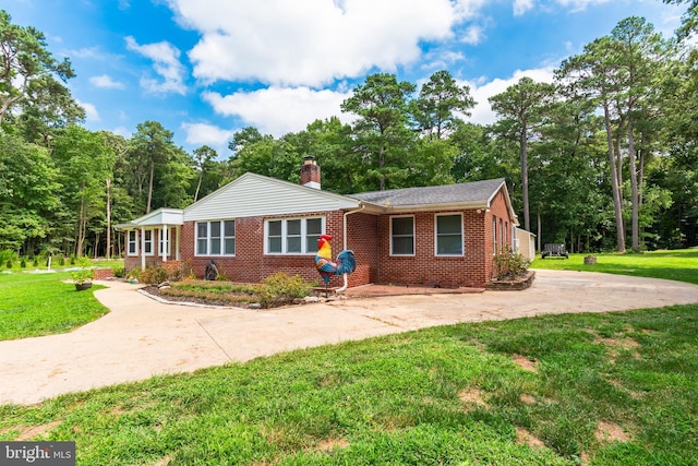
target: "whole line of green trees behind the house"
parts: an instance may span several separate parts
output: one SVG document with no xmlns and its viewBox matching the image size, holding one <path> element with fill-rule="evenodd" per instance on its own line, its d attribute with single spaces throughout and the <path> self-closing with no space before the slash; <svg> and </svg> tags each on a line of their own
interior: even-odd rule
<svg viewBox="0 0 698 466">
<path fill-rule="evenodd" d="M 666 0 L 666 2 L 676 2 Z M 238 131 L 221 157 L 191 154 L 144 121 L 130 138 L 88 131 L 44 35 L 0 11 L 0 250 L 118 255 L 112 225 L 184 207 L 244 172 L 299 181 L 303 156 L 340 194 L 504 177 L 521 226 L 573 251 L 698 244 L 698 58 L 691 3 L 677 37 L 642 17 L 564 60 L 552 83 L 522 77 L 490 98 L 493 124 L 448 71 L 419 89 L 366 76 L 341 105 L 280 138 Z M 691 14 L 694 12 L 694 14 Z"/>
</svg>

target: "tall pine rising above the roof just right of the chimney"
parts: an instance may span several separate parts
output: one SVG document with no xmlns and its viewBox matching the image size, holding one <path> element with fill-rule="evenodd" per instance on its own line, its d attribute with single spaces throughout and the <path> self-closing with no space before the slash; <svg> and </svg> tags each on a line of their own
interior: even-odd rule
<svg viewBox="0 0 698 466">
<path fill-rule="evenodd" d="M 386 189 L 386 180 L 399 184 L 407 175 L 408 164 L 401 156 L 414 139 L 407 128 L 408 97 L 414 88 L 394 74 L 371 74 L 341 104 L 342 111 L 360 117 L 354 123 L 356 150 L 365 157 L 368 174 L 377 178 L 380 190 Z"/>
</svg>

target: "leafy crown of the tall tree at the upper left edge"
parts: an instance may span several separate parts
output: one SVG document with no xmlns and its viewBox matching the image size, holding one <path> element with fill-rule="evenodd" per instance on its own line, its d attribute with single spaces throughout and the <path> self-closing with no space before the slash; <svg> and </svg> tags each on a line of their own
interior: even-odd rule
<svg viewBox="0 0 698 466">
<path fill-rule="evenodd" d="M 75 74 L 70 60 L 57 61 L 47 50 L 46 38 L 38 29 L 11 23 L 8 12 L 0 10 L 0 124 L 4 116 L 17 103 L 29 95 L 46 96 L 43 91 L 57 92 L 58 76 L 63 82 Z M 70 95 L 63 87 L 61 95 Z M 72 99 L 71 99 L 72 100 Z M 74 105 L 74 101 L 70 103 Z"/>
</svg>

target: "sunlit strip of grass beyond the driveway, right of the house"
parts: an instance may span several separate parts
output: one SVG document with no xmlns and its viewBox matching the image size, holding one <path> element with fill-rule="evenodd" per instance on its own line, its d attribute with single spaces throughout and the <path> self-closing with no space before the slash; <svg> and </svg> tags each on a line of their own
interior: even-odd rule
<svg viewBox="0 0 698 466">
<path fill-rule="evenodd" d="M 597 263 L 585 265 L 589 254 L 569 254 L 569 259 L 540 259 L 532 268 L 564 271 L 604 272 L 617 275 L 634 275 L 650 278 L 666 278 L 698 285 L 698 249 L 651 251 L 643 254 L 600 253 Z"/>
</svg>

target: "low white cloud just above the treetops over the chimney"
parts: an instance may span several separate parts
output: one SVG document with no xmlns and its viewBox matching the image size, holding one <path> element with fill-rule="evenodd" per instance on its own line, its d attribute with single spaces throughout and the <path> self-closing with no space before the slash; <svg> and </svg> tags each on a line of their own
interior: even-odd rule
<svg viewBox="0 0 698 466">
<path fill-rule="evenodd" d="M 304 130 L 316 119 L 333 116 L 349 122 L 352 117 L 341 113 L 339 106 L 349 93 L 335 91 L 313 91 L 308 87 L 269 87 L 266 89 L 234 93 L 221 96 L 204 93 L 217 113 L 236 116 L 245 126 L 252 126 L 263 134 L 281 136 L 289 132 Z"/>
</svg>

